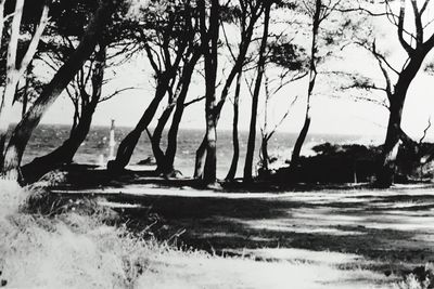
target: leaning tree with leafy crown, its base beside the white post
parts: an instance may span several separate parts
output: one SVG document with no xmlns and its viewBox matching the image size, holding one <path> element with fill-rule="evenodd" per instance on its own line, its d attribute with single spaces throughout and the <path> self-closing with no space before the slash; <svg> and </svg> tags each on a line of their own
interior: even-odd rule
<svg viewBox="0 0 434 289">
<path fill-rule="evenodd" d="M 144 26 L 136 27 L 135 30 L 140 36 L 139 41 L 154 70 L 155 94 L 135 129 L 120 142 L 116 159 L 108 161 L 107 169 L 112 171 L 122 170 L 128 165 L 141 134 L 148 130 L 163 98 L 169 95 L 169 106 L 175 105 L 174 88 L 182 61 L 188 60 L 194 50 L 195 16 L 189 0 L 174 3 L 155 1 L 151 2 L 145 11 L 149 13 Z M 171 110 L 168 109 L 155 136 L 151 136 L 155 157 L 159 163 L 164 158 L 159 148 L 161 134 L 170 114 Z"/>
</svg>

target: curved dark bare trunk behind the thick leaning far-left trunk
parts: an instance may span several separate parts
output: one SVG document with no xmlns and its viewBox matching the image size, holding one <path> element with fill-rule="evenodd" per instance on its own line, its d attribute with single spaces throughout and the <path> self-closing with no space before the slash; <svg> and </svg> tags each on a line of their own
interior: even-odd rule
<svg viewBox="0 0 434 289">
<path fill-rule="evenodd" d="M 89 133 L 92 123 L 93 113 L 101 98 L 102 84 L 104 79 L 105 48 L 100 47 L 95 53 L 95 64 L 92 71 L 92 95 L 89 102 L 89 95 L 81 96 L 82 108 L 81 117 L 78 122 L 74 122 L 69 137 L 52 153 L 34 159 L 30 163 L 22 167 L 23 181 L 31 183 L 49 171 L 59 168 L 62 165 L 71 163 L 77 149 L 80 147 Z M 87 92 L 82 92 L 87 93 Z M 88 100 L 88 101 L 85 101 Z M 76 121 L 76 120 L 75 120 Z"/>
</svg>

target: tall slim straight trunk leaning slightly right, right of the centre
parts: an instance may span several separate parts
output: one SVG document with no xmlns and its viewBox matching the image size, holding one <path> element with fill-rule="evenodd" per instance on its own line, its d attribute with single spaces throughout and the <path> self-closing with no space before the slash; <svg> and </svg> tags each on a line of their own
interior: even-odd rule
<svg viewBox="0 0 434 289">
<path fill-rule="evenodd" d="M 268 39 L 268 26 L 270 19 L 270 9 L 271 2 L 265 3 L 265 14 L 264 14 L 264 32 L 263 39 L 260 42 L 259 48 L 259 60 L 258 60 L 258 68 L 257 68 L 257 77 L 255 82 L 255 89 L 253 92 L 252 97 L 252 116 L 251 116 L 251 124 L 250 124 L 250 132 L 248 132 L 248 140 L 247 140 L 247 153 L 245 155 L 245 162 L 244 162 L 244 182 L 251 182 L 252 176 L 252 169 L 253 169 L 253 157 L 255 152 L 255 139 L 256 139 L 256 118 L 257 118 L 257 107 L 259 101 L 259 91 L 260 86 L 263 82 L 263 75 L 264 75 L 264 67 L 265 67 L 265 50 L 267 47 L 267 39 Z"/>
</svg>

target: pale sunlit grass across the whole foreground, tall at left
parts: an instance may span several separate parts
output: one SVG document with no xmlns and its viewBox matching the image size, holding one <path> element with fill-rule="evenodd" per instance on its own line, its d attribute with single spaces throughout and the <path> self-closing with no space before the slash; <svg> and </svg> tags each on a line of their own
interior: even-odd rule
<svg viewBox="0 0 434 289">
<path fill-rule="evenodd" d="M 354 254 L 261 248 L 222 258 L 179 250 L 131 233 L 97 201 L 46 202 L 38 192 L 0 182 L 0 287 L 426 288 L 414 274 L 385 284 L 382 274 L 342 268 Z M 299 260 L 255 259 L 267 250 Z M 309 254 L 315 262 L 303 260 Z"/>
</svg>

